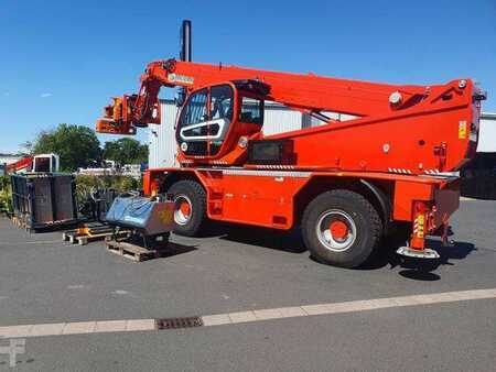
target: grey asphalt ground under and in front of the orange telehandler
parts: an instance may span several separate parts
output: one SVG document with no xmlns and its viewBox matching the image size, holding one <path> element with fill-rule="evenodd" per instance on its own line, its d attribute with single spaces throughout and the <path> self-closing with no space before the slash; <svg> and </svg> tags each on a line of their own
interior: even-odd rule
<svg viewBox="0 0 496 372">
<path fill-rule="evenodd" d="M 0 220 L 0 327 L 209 315 L 496 288 L 496 203 L 463 201 L 456 245 L 413 269 L 388 252 L 349 271 L 309 260 L 296 233 L 219 227 L 134 264 Z M 182 330 L 28 338 L 20 370 L 460 370 L 496 364 L 494 298 Z M 0 340 L 6 346 L 7 340 Z M 9 369 L 0 355 L 0 370 Z"/>
</svg>

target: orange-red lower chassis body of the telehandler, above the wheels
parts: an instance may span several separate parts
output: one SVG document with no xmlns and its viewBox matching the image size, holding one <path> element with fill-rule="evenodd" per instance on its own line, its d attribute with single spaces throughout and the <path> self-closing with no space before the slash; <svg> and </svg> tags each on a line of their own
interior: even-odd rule
<svg viewBox="0 0 496 372">
<path fill-rule="evenodd" d="M 241 168 L 155 168 L 144 177 L 144 193 L 152 194 L 165 175 L 194 177 L 207 192 L 208 218 L 220 221 L 263 226 L 276 229 L 294 227 L 294 199 L 312 178 L 325 183 L 337 178 L 366 179 L 392 185 L 390 220 L 412 221 L 413 203 L 438 206 L 436 221 L 442 214 L 451 216 L 460 198 L 456 182 L 435 177 L 360 172 L 249 171 Z M 440 225 L 438 225 L 440 226 Z"/>
</svg>

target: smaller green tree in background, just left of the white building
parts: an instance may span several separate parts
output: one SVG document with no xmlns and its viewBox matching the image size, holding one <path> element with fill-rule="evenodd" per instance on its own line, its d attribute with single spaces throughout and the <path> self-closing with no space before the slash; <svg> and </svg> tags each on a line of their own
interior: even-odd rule
<svg viewBox="0 0 496 372">
<path fill-rule="evenodd" d="M 119 165 L 148 162 L 148 146 L 133 139 L 119 139 L 105 142 L 104 158 Z"/>
</svg>

